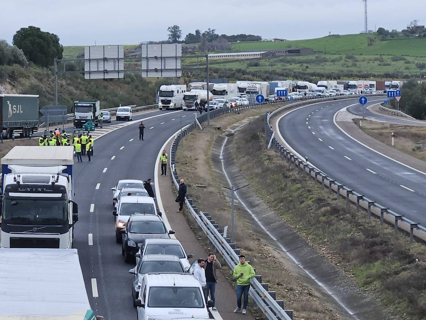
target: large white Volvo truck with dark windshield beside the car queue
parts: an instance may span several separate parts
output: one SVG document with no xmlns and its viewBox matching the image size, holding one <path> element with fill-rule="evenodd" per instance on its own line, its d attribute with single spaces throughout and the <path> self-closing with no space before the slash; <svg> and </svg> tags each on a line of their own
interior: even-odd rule
<svg viewBox="0 0 426 320">
<path fill-rule="evenodd" d="M 73 154 L 72 146 L 22 145 L 1 159 L 0 247 L 72 247 L 78 221 Z"/>
</svg>

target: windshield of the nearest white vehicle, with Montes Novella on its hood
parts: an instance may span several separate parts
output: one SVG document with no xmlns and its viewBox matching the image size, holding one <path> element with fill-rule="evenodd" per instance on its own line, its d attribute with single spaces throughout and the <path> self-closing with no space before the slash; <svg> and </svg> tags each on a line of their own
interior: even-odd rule
<svg viewBox="0 0 426 320">
<path fill-rule="evenodd" d="M 150 308 L 204 308 L 201 290 L 196 287 L 151 287 Z"/>
</svg>

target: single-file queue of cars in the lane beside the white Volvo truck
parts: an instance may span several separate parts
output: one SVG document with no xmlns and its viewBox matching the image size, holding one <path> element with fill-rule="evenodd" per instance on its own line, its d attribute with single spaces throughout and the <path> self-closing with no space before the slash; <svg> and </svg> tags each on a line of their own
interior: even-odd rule
<svg viewBox="0 0 426 320">
<path fill-rule="evenodd" d="M 135 262 L 132 301 L 138 320 L 205 319 L 208 308 L 193 266 L 182 244 L 171 238 L 154 198 L 148 196 L 144 181 L 119 180 L 111 188 L 115 218 L 115 240 L 121 244 L 124 262 Z M 192 267 L 192 268 L 191 268 Z"/>
</svg>

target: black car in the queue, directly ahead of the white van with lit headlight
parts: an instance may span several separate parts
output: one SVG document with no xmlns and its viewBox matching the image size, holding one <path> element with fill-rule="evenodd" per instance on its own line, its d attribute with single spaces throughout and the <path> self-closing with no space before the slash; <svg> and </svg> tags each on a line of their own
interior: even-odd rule
<svg viewBox="0 0 426 320">
<path fill-rule="evenodd" d="M 169 230 L 158 215 L 131 215 L 126 227 L 120 231 L 123 235 L 121 254 L 125 262 L 132 262 L 145 239 L 168 239 L 175 231 Z"/>
</svg>

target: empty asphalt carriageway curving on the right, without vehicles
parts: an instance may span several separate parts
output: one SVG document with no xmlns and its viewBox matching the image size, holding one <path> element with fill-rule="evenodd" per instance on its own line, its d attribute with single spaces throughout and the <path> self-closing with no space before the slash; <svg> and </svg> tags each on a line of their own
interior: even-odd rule
<svg viewBox="0 0 426 320">
<path fill-rule="evenodd" d="M 377 99 L 368 102 L 367 106 L 380 101 L 380 98 Z M 354 104 L 359 106 L 358 98 L 295 109 L 279 118 L 279 133 L 301 157 L 308 157 L 313 166 L 327 175 L 396 212 L 426 224 L 426 174 L 366 148 L 344 134 L 337 127 L 339 121 L 337 125 L 334 123 L 337 111 Z M 356 105 L 348 109 L 358 112 Z"/>
</svg>

